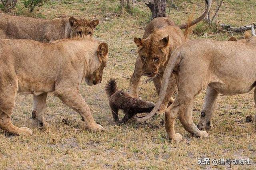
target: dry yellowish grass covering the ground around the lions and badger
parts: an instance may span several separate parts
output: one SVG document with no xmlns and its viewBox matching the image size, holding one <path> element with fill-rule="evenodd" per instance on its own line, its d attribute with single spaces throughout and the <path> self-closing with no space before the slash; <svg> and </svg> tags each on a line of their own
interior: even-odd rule
<svg viewBox="0 0 256 170">
<path fill-rule="evenodd" d="M 174 0 L 176 3 L 177 1 Z M 193 0 L 196 16 L 204 8 L 202 0 Z M 226 0 L 219 12 L 221 23 L 235 26 L 256 22 L 255 0 Z M 149 9 L 138 1 L 133 14 L 120 12 L 118 0 L 64 0 L 53 1 L 32 14 L 41 18 L 54 18 L 60 14 L 99 18 L 95 36 L 108 43 L 109 62 L 104 71 L 103 82 L 88 87 L 83 84 L 81 93 L 90 105 L 96 121 L 105 127 L 105 132 L 91 133 L 84 130 L 80 116 L 64 106 L 61 101 L 49 95 L 46 120 L 49 127 L 45 131 L 33 129 L 33 135 L 10 136 L 0 134 L 0 169 L 169 169 L 169 168 L 256 168 L 256 132 L 252 123 L 246 123 L 247 115 L 254 115 L 255 106 L 252 92 L 243 95 L 218 97 L 213 118 L 214 128 L 206 139 L 195 138 L 176 121 L 176 131 L 185 140 L 176 144 L 167 140 L 164 127 L 159 126 L 162 117 L 144 124 L 130 123 L 114 125 L 104 84 L 110 77 L 118 80 L 119 87 L 125 90 L 136 60 L 135 36 L 142 37 L 143 29 L 150 20 Z M 171 9 L 170 18 L 178 24 L 188 18 L 193 4 L 188 0 L 177 2 L 179 11 Z M 28 15 L 21 5 L 18 14 Z M 213 7 L 215 9 L 215 7 Z M 188 12 L 188 14 L 187 14 Z M 113 15 L 118 13 L 117 16 Z M 119 15 L 120 14 L 120 15 Z M 231 35 L 216 32 L 203 22 L 198 24 L 191 38 L 213 38 L 227 40 Z M 235 34 L 240 38 L 242 34 Z M 157 100 L 152 83 L 140 83 L 143 99 Z M 198 95 L 194 104 L 194 122 L 197 123 L 202 108 L 205 89 Z M 18 95 L 12 122 L 18 127 L 32 125 L 32 96 Z M 62 123 L 70 120 L 70 124 Z M 0 131 L 1 132 L 1 131 Z M 197 158 L 250 158 L 251 166 L 201 166 Z"/>
</svg>

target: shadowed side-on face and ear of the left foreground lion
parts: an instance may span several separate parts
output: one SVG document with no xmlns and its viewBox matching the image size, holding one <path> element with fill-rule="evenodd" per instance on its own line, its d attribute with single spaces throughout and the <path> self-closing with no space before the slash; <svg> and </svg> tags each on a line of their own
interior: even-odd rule
<svg viewBox="0 0 256 170">
<path fill-rule="evenodd" d="M 101 43 L 98 46 L 97 50 L 97 57 L 100 61 L 100 65 L 98 69 L 96 69 L 92 75 L 89 75 L 85 80 L 88 85 L 96 85 L 98 83 L 101 83 L 102 81 L 102 75 L 103 75 L 103 69 L 106 67 L 106 63 L 108 60 L 108 44 Z"/>
</svg>

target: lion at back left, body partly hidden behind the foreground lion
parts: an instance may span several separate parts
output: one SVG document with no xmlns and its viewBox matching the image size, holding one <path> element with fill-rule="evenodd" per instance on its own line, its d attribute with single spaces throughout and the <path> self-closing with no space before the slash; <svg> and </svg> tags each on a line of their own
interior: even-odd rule
<svg viewBox="0 0 256 170">
<path fill-rule="evenodd" d="M 99 20 L 88 21 L 74 17 L 43 20 L 0 14 L 0 39 L 22 38 L 53 42 L 63 38 L 92 36 L 98 24 Z"/>
</svg>

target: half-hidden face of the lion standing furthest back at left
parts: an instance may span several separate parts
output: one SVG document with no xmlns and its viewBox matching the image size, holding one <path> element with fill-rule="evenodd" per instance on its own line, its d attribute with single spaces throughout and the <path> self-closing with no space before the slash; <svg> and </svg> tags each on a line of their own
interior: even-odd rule
<svg viewBox="0 0 256 170">
<path fill-rule="evenodd" d="M 99 24 L 99 20 L 88 21 L 86 19 L 77 20 L 74 17 L 69 18 L 71 26 L 70 38 L 92 36 L 94 29 Z"/>
</svg>

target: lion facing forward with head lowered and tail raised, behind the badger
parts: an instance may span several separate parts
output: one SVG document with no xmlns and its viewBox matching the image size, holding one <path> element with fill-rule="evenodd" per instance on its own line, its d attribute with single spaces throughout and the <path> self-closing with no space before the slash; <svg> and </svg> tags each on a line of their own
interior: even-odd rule
<svg viewBox="0 0 256 170">
<path fill-rule="evenodd" d="M 143 38 L 134 38 L 134 42 L 138 46 L 138 57 L 136 59 L 134 73 L 130 78 L 130 95 L 138 97 L 138 85 L 142 75 L 150 77 L 153 80 L 156 91 L 159 95 L 162 85 L 162 76 L 170 54 L 174 49 L 187 41 L 182 29 L 189 28 L 203 20 L 208 14 L 212 0 L 206 0 L 207 8 L 196 20 L 176 26 L 174 21 L 169 18 L 154 18 L 145 28 Z M 174 76 L 172 76 L 174 79 Z M 175 89 L 176 84 L 170 85 L 170 89 Z M 172 103 L 172 94 L 165 102 Z"/>
</svg>

